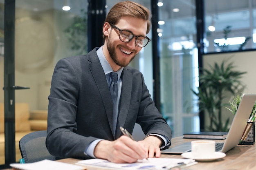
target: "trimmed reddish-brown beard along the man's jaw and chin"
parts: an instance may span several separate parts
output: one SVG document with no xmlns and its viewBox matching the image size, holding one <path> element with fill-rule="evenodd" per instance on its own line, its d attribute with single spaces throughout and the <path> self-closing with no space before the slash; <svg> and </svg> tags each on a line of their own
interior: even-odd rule
<svg viewBox="0 0 256 170">
<path fill-rule="evenodd" d="M 135 55 L 130 59 L 129 62 L 126 62 L 126 60 L 118 60 L 117 58 L 117 53 L 115 50 L 115 46 L 113 45 L 113 43 L 111 42 L 111 34 L 108 35 L 108 39 L 107 39 L 107 49 L 108 49 L 108 53 L 110 55 L 110 57 L 112 58 L 112 60 L 115 62 L 115 64 L 117 64 L 118 66 L 121 67 L 126 67 L 128 66 L 128 64 L 130 64 L 130 62 L 134 59 Z M 133 53 L 135 53 L 136 51 L 134 51 Z"/>
</svg>

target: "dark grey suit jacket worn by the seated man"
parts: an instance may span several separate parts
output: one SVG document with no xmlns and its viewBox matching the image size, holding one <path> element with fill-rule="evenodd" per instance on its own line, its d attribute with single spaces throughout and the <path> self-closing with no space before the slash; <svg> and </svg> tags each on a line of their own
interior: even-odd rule
<svg viewBox="0 0 256 170">
<path fill-rule="evenodd" d="M 55 66 L 48 106 L 46 146 L 60 158 L 90 158 L 85 148 L 96 139 L 113 141 L 113 106 L 106 75 L 96 53 L 61 59 Z M 143 75 L 129 66 L 121 75 L 118 125 L 132 132 L 135 122 L 146 135 L 171 141 L 171 128 L 158 112 Z"/>
</svg>

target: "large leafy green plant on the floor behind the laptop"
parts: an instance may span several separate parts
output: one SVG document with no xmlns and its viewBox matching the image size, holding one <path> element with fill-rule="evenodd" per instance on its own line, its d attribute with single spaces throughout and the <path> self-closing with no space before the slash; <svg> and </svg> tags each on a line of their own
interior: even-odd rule
<svg viewBox="0 0 256 170">
<path fill-rule="evenodd" d="M 235 71 L 233 62 L 227 63 L 226 60 L 220 65 L 214 63 L 209 67 L 200 68 L 200 86 L 198 91 L 192 91 L 198 97 L 199 110 L 209 114 L 209 127 L 204 128 L 204 131 L 226 132 L 229 130 L 229 119 L 225 123 L 222 121 L 222 108 L 228 105 L 223 102 L 227 98 L 225 94 L 234 94 L 238 88 L 245 87 L 239 79 L 246 72 Z"/>
</svg>

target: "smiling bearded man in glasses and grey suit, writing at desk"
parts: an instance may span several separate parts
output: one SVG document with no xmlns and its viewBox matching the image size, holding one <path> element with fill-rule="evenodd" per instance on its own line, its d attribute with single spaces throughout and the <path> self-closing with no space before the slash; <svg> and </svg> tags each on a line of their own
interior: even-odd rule
<svg viewBox="0 0 256 170">
<path fill-rule="evenodd" d="M 103 46 L 56 64 L 46 139 L 52 155 L 131 163 L 160 157 L 160 149 L 171 145 L 171 128 L 150 98 L 143 75 L 128 66 L 150 42 L 149 30 L 148 9 L 119 2 L 103 25 Z M 119 129 L 131 133 L 135 123 L 146 135 L 142 141 Z"/>
</svg>

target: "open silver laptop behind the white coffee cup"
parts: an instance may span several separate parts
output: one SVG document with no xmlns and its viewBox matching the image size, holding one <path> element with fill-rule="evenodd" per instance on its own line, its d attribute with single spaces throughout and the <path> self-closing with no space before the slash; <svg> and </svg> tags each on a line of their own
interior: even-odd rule
<svg viewBox="0 0 256 170">
<path fill-rule="evenodd" d="M 224 143 L 216 143 L 216 145 L 222 145 L 220 149 L 216 151 L 227 152 L 236 147 L 243 135 L 244 129 L 247 125 L 247 121 L 251 115 L 253 106 L 256 101 L 256 94 L 243 94 L 241 102 L 236 111 L 236 115 L 232 121 L 227 138 Z M 163 154 L 182 154 L 184 152 L 191 151 L 191 142 L 186 142 L 165 150 L 161 150 Z"/>
</svg>

